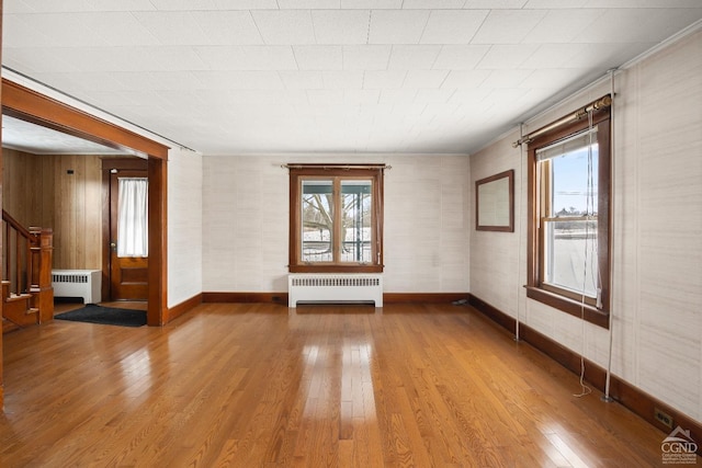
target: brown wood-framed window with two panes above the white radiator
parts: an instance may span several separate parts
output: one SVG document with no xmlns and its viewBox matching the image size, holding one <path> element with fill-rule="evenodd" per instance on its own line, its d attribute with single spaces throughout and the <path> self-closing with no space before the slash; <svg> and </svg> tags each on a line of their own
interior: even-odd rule
<svg viewBox="0 0 702 468">
<path fill-rule="evenodd" d="M 383 271 L 383 165 L 290 165 L 290 271 Z"/>
</svg>

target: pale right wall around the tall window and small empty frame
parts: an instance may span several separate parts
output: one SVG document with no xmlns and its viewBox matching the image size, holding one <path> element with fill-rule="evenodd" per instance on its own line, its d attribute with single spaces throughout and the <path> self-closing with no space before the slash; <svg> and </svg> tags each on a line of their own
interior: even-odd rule
<svg viewBox="0 0 702 468">
<path fill-rule="evenodd" d="M 702 32 L 618 72 L 614 89 L 612 372 L 702 421 Z M 605 79 L 525 133 L 609 91 Z M 473 181 L 514 169 L 519 201 L 513 233 L 473 232 L 471 292 L 605 366 L 607 330 L 525 298 L 525 156 L 510 146 L 518 137 L 471 157 Z"/>
</svg>

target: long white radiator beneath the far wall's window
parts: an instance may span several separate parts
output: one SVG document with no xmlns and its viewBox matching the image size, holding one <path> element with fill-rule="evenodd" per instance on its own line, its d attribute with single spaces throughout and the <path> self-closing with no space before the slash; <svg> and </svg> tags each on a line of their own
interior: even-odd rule
<svg viewBox="0 0 702 468">
<path fill-rule="evenodd" d="M 383 307 L 383 275 L 291 274 L 287 307 L 297 303 L 375 303 L 375 307 Z"/>
</svg>

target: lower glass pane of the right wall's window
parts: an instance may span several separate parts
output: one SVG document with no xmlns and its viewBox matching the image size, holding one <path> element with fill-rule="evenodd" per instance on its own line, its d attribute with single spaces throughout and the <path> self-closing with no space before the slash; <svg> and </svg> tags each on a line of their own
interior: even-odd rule
<svg viewBox="0 0 702 468">
<path fill-rule="evenodd" d="M 597 296 L 597 221 L 544 221 L 544 283 Z"/>
</svg>

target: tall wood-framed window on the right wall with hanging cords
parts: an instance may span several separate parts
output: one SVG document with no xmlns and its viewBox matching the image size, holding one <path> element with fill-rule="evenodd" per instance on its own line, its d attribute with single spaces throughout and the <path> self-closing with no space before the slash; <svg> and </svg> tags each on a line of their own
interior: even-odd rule
<svg viewBox="0 0 702 468">
<path fill-rule="evenodd" d="M 529 144 L 526 295 L 609 327 L 610 112 Z"/>
</svg>

